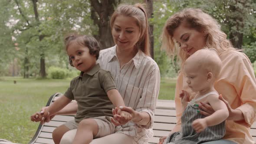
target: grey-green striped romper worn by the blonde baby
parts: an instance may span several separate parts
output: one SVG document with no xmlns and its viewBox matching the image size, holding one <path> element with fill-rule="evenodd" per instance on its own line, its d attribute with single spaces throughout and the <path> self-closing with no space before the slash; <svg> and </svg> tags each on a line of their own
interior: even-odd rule
<svg viewBox="0 0 256 144">
<path fill-rule="evenodd" d="M 165 139 L 164 144 L 201 144 L 207 141 L 215 141 L 224 137 L 226 128 L 225 121 L 220 124 L 207 127 L 200 133 L 192 128 L 192 122 L 198 118 L 205 118 L 205 115 L 197 113 L 199 109 L 195 106 L 196 101 L 207 97 L 208 95 L 219 95 L 217 92 L 209 92 L 200 98 L 192 99 L 181 116 L 181 132 L 175 132 Z"/>
</svg>

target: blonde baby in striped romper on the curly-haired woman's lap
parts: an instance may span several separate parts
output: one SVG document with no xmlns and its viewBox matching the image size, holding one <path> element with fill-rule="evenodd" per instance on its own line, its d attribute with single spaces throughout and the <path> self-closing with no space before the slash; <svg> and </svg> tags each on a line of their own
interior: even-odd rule
<svg viewBox="0 0 256 144">
<path fill-rule="evenodd" d="M 164 144 L 200 144 L 221 139 L 225 135 L 225 120 L 229 112 L 214 89 L 221 65 L 215 49 L 200 49 L 184 62 L 187 85 L 197 92 L 197 95 L 189 101 L 188 92 L 181 92 L 184 110 L 181 116 L 181 131 L 167 137 Z M 198 108 L 200 102 L 210 104 L 215 112 L 209 116 L 201 115 Z"/>
</svg>

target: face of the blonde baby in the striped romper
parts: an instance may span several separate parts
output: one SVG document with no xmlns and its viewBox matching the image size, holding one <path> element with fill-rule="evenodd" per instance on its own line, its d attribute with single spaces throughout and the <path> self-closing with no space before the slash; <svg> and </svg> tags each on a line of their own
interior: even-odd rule
<svg viewBox="0 0 256 144">
<path fill-rule="evenodd" d="M 207 82 L 207 72 L 197 64 L 186 62 L 184 73 L 187 77 L 187 85 L 194 91 L 200 92 L 210 84 Z"/>
</svg>

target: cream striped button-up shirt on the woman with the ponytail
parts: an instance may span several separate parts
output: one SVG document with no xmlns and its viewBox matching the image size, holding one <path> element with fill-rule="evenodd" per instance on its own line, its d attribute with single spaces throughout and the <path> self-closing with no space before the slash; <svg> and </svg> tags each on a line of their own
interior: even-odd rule
<svg viewBox="0 0 256 144">
<path fill-rule="evenodd" d="M 111 72 L 125 106 L 135 111 L 145 111 L 151 118 L 147 125 L 129 121 L 118 126 L 116 132 L 132 136 L 138 144 L 148 144 L 148 138 L 153 136 L 152 125 L 160 87 L 157 63 L 139 50 L 134 58 L 120 68 L 116 46 L 101 50 L 98 63 L 102 69 Z"/>
</svg>

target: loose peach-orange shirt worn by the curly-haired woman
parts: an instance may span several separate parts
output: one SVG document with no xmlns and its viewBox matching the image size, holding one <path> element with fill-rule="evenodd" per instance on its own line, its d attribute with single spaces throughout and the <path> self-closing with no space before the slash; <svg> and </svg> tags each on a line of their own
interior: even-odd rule
<svg viewBox="0 0 256 144">
<path fill-rule="evenodd" d="M 256 79 L 249 58 L 242 52 L 227 50 L 220 54 L 222 69 L 219 79 L 214 87 L 223 95 L 231 108 L 242 111 L 244 121 L 226 121 L 226 134 L 224 139 L 238 144 L 254 144 L 250 135 L 250 126 L 256 119 Z M 175 92 L 175 105 L 177 125 L 174 131 L 181 130 L 181 90 L 190 93 L 190 100 L 195 93 L 187 86 L 186 78 L 181 72 L 177 79 Z"/>
</svg>

